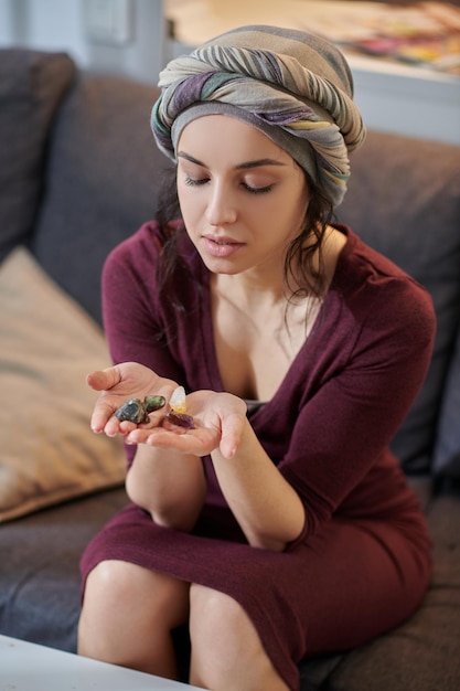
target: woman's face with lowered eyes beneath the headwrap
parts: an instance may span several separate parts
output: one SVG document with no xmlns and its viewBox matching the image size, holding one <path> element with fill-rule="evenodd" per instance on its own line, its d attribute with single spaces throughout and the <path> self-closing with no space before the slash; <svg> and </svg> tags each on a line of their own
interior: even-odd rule
<svg viewBox="0 0 460 691">
<path fill-rule="evenodd" d="M 210 115 L 184 127 L 176 157 L 183 220 L 207 268 L 279 275 L 308 205 L 289 153 L 242 120 Z"/>
</svg>

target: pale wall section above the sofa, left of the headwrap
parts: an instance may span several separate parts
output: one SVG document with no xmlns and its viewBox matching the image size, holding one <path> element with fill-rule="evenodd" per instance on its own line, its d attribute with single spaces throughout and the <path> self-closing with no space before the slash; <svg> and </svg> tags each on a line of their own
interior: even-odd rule
<svg viewBox="0 0 460 691">
<path fill-rule="evenodd" d="M 164 62 L 162 0 L 128 4 L 132 40 L 110 44 L 88 35 L 84 0 L 0 0 L 0 46 L 65 51 L 82 67 L 157 83 Z"/>
</svg>

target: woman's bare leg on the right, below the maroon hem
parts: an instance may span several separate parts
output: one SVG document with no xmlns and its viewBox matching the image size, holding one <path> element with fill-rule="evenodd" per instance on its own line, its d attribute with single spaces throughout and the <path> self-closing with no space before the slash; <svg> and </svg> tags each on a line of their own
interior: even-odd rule
<svg viewBox="0 0 460 691">
<path fill-rule="evenodd" d="M 193 584 L 190 603 L 191 683 L 213 691 L 289 691 L 236 600 Z"/>
</svg>

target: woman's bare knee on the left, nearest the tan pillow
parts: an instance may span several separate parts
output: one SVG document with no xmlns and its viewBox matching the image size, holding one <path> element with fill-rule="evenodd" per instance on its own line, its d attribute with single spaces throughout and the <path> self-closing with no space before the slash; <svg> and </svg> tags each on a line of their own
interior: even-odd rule
<svg viewBox="0 0 460 691">
<path fill-rule="evenodd" d="M 171 630 L 186 621 L 190 585 L 119 561 L 89 574 L 78 627 L 78 653 L 174 679 Z"/>
</svg>

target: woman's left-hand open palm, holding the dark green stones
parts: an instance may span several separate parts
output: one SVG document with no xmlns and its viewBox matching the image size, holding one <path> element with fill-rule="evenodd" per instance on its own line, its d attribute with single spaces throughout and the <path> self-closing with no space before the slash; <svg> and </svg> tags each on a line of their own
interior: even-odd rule
<svg viewBox="0 0 460 691">
<path fill-rule="evenodd" d="M 92 389 L 101 392 L 93 412 L 92 429 L 96 433 L 105 432 L 107 436 L 127 435 L 137 428 L 135 423 L 119 422 L 115 417 L 115 411 L 128 398 L 143 400 L 148 394 L 157 394 L 169 401 L 178 386 L 173 380 L 163 379 L 138 362 L 124 362 L 106 370 L 92 372 L 86 381 Z M 162 408 L 151 413 L 150 422 L 141 427 L 159 425 L 164 412 L 165 410 Z"/>
</svg>

